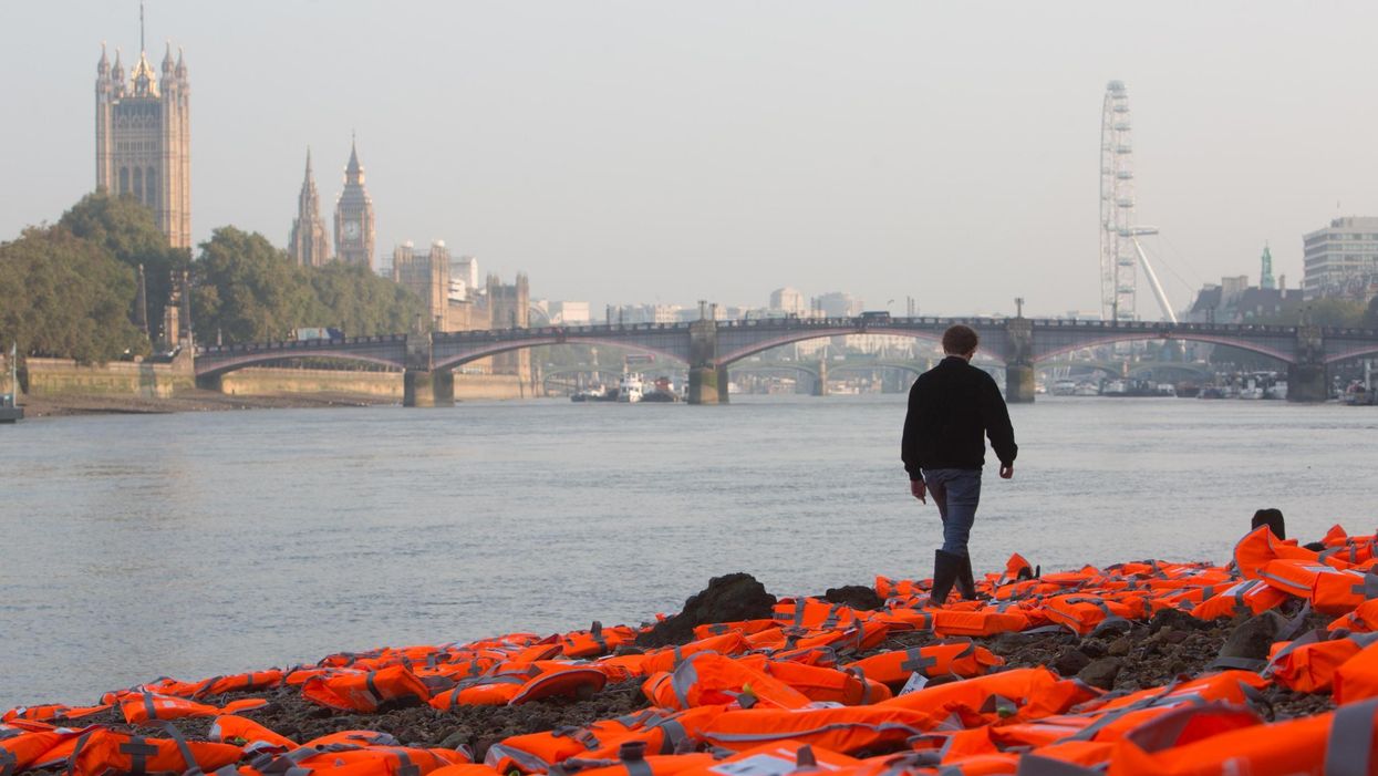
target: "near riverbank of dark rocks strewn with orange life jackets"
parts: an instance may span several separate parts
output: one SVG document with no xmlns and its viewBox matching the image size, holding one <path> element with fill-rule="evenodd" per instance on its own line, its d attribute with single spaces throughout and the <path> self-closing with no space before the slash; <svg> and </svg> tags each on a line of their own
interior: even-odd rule
<svg viewBox="0 0 1378 776">
<path fill-rule="evenodd" d="M 1013 555 L 977 580 L 977 598 L 941 606 L 927 580 L 777 598 L 736 573 L 641 626 L 342 652 L 161 678 L 96 707 L 19 707 L 4 715 L 15 725 L 7 744 L 30 736 L 39 754 L 11 765 L 36 773 L 128 770 L 109 753 L 152 755 L 157 742 L 193 753 L 190 740 L 201 770 L 241 762 L 247 775 L 678 773 L 769 744 L 788 753 L 769 776 L 794 772 L 801 746 L 812 747 L 801 765 L 816 758 L 853 776 L 1013 776 L 1029 755 L 1177 773 L 1167 765 L 1182 747 L 1193 766 L 1224 758 L 1218 772 L 1264 773 L 1247 765 L 1275 757 L 1261 744 L 1273 740 L 1316 765 L 1288 773 L 1319 775 L 1353 762 L 1341 731 L 1364 725 L 1367 751 L 1378 724 L 1378 644 L 1346 638 L 1378 626 L 1364 586 L 1350 584 L 1378 564 L 1375 544 L 1333 529 L 1322 557 L 1261 528 L 1229 566 L 1134 561 L 1046 575 Z M 107 739 L 99 754 L 62 748 L 90 735 Z M 697 759 L 638 765 L 646 755 Z"/>
</svg>

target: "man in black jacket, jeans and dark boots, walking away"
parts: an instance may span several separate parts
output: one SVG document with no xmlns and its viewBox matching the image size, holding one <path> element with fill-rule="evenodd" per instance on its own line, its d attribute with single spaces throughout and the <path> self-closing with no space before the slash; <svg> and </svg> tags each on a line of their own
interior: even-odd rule
<svg viewBox="0 0 1378 776">
<path fill-rule="evenodd" d="M 943 361 L 919 375 L 909 389 L 900 458 L 909 473 L 909 491 L 943 517 L 943 549 L 933 561 L 930 600 L 943 605 L 954 583 L 963 598 L 976 598 L 971 557 L 966 542 L 981 499 L 981 467 L 985 438 L 1000 459 L 1000 477 L 1014 477 L 1014 427 L 1010 412 L 991 375 L 971 365 L 980 338 L 971 327 L 954 325 L 943 332 Z"/>
</svg>

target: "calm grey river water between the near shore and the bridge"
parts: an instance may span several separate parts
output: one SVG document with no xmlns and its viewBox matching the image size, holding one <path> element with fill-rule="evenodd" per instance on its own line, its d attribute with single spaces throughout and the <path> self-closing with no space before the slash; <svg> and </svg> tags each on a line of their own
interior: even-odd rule
<svg viewBox="0 0 1378 776">
<path fill-rule="evenodd" d="M 978 568 L 1224 561 L 1257 507 L 1374 529 L 1378 413 L 1039 397 L 1011 408 Z M 637 623 L 710 576 L 926 576 L 904 397 L 568 401 L 0 427 L 0 710 L 338 651 Z"/>
</svg>

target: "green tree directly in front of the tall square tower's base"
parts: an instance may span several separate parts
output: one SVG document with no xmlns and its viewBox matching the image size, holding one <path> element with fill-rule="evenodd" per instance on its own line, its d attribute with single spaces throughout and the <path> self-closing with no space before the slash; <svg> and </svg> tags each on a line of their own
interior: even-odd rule
<svg viewBox="0 0 1378 776">
<path fill-rule="evenodd" d="M 186 269 L 192 255 L 168 245 L 153 211 L 128 194 L 94 193 L 62 214 L 58 225 L 105 248 L 135 272 L 143 265 L 149 332 L 160 338 L 163 312 L 172 295 L 172 274 Z M 138 289 L 130 296 L 128 317 L 135 323 L 139 320 Z"/>
</svg>

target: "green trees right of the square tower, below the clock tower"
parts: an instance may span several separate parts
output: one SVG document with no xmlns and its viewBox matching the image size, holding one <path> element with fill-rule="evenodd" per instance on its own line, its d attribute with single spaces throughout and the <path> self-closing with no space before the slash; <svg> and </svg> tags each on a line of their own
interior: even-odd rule
<svg viewBox="0 0 1378 776">
<path fill-rule="evenodd" d="M 335 327 L 349 336 L 409 331 L 416 296 L 365 266 L 300 267 L 267 238 L 216 229 L 193 263 L 192 318 L 201 342 L 289 339 L 292 329 Z"/>
</svg>

